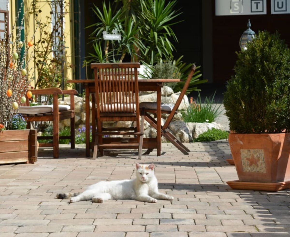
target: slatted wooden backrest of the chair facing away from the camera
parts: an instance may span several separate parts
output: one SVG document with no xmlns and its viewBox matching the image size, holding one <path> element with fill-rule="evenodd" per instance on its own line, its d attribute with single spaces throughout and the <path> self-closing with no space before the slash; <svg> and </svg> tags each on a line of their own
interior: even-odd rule
<svg viewBox="0 0 290 237">
<path fill-rule="evenodd" d="M 95 75 L 97 116 L 100 113 L 136 113 L 136 108 L 139 109 L 139 67 L 139 63 L 91 64 Z"/>
</svg>

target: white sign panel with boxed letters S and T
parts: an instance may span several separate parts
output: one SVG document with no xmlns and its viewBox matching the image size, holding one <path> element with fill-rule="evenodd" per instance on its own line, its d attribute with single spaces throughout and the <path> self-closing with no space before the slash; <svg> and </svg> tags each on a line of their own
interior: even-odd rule
<svg viewBox="0 0 290 237">
<path fill-rule="evenodd" d="M 265 15 L 266 2 L 266 0 L 215 0 L 215 15 Z"/>
</svg>

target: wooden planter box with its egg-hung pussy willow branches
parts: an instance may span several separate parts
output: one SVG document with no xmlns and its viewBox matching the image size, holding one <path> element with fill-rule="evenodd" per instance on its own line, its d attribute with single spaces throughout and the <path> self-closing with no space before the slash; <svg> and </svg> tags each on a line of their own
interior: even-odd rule
<svg viewBox="0 0 290 237">
<path fill-rule="evenodd" d="M 8 4 L 7 1 L 7 6 Z M 8 13 L 7 11 L 5 17 L 6 30 Z M 12 32 L 15 26 L 15 23 L 12 24 Z M 19 104 L 26 102 L 23 94 L 28 92 L 27 96 L 31 97 L 31 92 L 28 91 L 31 81 L 28 77 L 28 63 L 33 58 L 28 57 L 28 50 L 33 43 L 31 40 L 21 41 L 20 31 L 21 29 L 16 31 L 13 39 L 12 34 L 5 31 L 6 40 L 0 41 L 0 164 L 34 163 L 37 159 L 37 131 L 25 129 L 26 121 L 17 115 Z M 32 54 L 33 49 L 29 51 Z"/>
</svg>

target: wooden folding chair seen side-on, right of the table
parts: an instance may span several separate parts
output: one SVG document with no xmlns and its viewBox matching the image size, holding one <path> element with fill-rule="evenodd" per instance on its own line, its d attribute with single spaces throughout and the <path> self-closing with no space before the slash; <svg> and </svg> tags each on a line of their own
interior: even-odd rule
<svg viewBox="0 0 290 237">
<path fill-rule="evenodd" d="M 183 154 L 188 155 L 189 149 L 182 144 L 168 129 L 168 126 L 173 119 L 174 115 L 177 114 L 177 108 L 179 107 L 180 103 L 182 102 L 182 99 L 186 93 L 186 90 L 189 86 L 189 83 L 191 81 L 191 78 L 194 74 L 196 66 L 193 65 L 191 67 L 190 73 L 186 79 L 186 82 L 182 88 L 182 91 L 176 101 L 175 104 L 165 104 L 161 103 L 161 113 L 169 114 L 166 122 L 163 126 L 161 126 L 161 135 L 167 138 L 173 145 L 175 145 Z M 154 118 L 152 118 L 148 113 L 157 113 L 157 103 L 156 102 L 141 102 L 139 104 L 139 108 L 144 113 L 145 120 L 153 126 L 155 129 L 157 129 L 157 122 Z M 144 124 L 141 124 L 141 130 L 143 130 Z M 149 154 L 153 149 L 148 149 L 145 154 Z"/>
</svg>

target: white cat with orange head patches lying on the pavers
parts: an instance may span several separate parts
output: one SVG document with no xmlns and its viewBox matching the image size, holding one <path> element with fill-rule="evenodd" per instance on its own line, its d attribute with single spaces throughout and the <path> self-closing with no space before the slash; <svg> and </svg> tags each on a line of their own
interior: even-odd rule
<svg viewBox="0 0 290 237">
<path fill-rule="evenodd" d="M 72 197 L 72 198 L 70 198 Z M 157 199 L 174 198 L 158 191 L 154 164 L 136 164 L 136 178 L 133 180 L 100 181 L 78 193 L 58 193 L 57 198 L 70 198 L 70 202 L 87 201 L 103 203 L 106 200 L 132 199 L 141 202 L 157 202 Z"/>
</svg>

